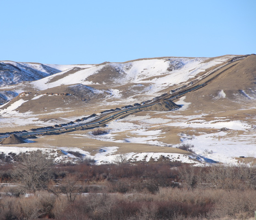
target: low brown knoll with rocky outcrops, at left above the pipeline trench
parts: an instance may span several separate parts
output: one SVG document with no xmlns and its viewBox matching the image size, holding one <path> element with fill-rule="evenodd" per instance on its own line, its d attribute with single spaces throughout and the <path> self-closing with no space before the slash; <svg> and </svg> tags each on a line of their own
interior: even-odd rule
<svg viewBox="0 0 256 220">
<path fill-rule="evenodd" d="M 34 99 L 39 95 L 42 96 Z M 89 103 L 103 101 L 107 95 L 109 95 L 108 92 L 97 90 L 83 84 L 61 85 L 37 92 L 23 92 L 12 99 L 7 105 L 3 106 L 2 109 L 8 108 L 8 106 L 11 106 L 19 99 L 27 101 L 16 109 L 21 113 L 28 111 L 36 113 L 45 109 L 55 110 L 56 108 L 73 108 L 76 106 L 86 107 Z"/>
</svg>

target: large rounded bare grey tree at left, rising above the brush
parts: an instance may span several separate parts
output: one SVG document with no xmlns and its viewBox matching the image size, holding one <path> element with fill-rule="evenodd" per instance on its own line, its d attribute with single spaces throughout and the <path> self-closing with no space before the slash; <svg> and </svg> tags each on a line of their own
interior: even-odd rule
<svg viewBox="0 0 256 220">
<path fill-rule="evenodd" d="M 26 189 L 37 191 L 47 188 L 52 176 L 53 160 L 41 150 L 31 151 L 20 155 L 18 164 L 14 169 L 14 177 Z"/>
</svg>

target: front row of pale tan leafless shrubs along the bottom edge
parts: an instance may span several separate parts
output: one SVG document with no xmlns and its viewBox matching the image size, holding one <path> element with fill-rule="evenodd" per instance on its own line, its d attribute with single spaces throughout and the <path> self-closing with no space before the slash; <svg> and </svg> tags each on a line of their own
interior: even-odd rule
<svg viewBox="0 0 256 220">
<path fill-rule="evenodd" d="M 88 194 L 77 195 L 68 202 L 38 191 L 28 198 L 0 199 L 0 220 L 203 220 L 252 219 L 255 190 L 222 190 L 159 187 L 156 194 Z"/>
</svg>

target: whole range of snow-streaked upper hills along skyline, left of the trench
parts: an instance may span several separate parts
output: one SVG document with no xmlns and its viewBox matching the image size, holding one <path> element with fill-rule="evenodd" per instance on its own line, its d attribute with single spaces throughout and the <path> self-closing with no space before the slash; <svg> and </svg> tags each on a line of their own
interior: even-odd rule
<svg viewBox="0 0 256 220">
<path fill-rule="evenodd" d="M 5 62 L 4 65 L 14 72 L 17 71 L 15 68 L 24 71 L 19 79 L 13 77 L 8 80 L 6 77 L 9 84 L 15 85 L 10 86 L 8 84 L 6 86 L 5 84 L 4 87 L 0 88 L 0 94 L 4 96 L 7 90 L 17 94 L 30 90 L 42 91 L 60 85 L 83 84 L 105 90 L 112 94 L 112 98 L 134 99 L 134 102 L 141 102 L 144 98 L 140 96 L 140 99 L 137 99 L 136 95 L 150 95 L 152 98 L 162 95 L 173 88 L 179 87 L 181 83 L 186 84 L 190 79 L 199 79 L 200 74 L 205 70 L 221 65 L 233 57 L 233 55 L 214 59 L 166 57 L 139 59 L 124 63 L 104 62 L 98 65 L 47 66 L 12 62 L 10 63 L 12 66 L 10 66 Z M 22 67 L 25 69 L 22 69 Z M 31 70 L 31 72 L 25 74 L 25 70 Z M 62 71 L 60 72 L 60 70 Z M 39 73 L 41 73 L 40 76 Z M 33 79 L 32 76 L 34 76 Z M 43 76 L 45 77 L 42 78 Z M 41 77 L 41 79 L 36 80 L 36 77 Z M 20 81 L 30 82 L 16 84 Z M 49 92 L 51 91 L 49 90 Z M 5 100 L 9 100 L 6 95 Z M 4 102 L 2 101 L 2 103 Z"/>
</svg>

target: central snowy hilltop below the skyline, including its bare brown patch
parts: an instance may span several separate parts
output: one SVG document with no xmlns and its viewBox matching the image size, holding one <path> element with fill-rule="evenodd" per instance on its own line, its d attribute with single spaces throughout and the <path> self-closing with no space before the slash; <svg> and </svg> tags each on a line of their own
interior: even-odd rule
<svg viewBox="0 0 256 220">
<path fill-rule="evenodd" d="M 232 58 L 223 56 L 209 61 L 208 58 L 159 58 L 125 63 L 105 62 L 90 68 L 69 69 L 34 81 L 33 84 L 40 90 L 67 84 L 99 84 L 108 87 L 151 84 L 152 92 L 158 92 L 170 85 L 188 81 L 198 73 Z"/>
</svg>

